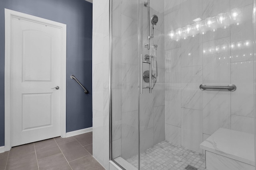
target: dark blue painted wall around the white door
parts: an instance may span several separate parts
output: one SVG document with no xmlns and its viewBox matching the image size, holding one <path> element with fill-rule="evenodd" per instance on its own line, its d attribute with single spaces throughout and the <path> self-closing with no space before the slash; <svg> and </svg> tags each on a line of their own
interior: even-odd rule
<svg viewBox="0 0 256 170">
<path fill-rule="evenodd" d="M 92 127 L 92 4 L 85 0 L 0 0 L 0 146 L 4 146 L 4 8 L 67 25 L 66 131 Z M 89 94 L 84 94 L 71 74 Z"/>
</svg>

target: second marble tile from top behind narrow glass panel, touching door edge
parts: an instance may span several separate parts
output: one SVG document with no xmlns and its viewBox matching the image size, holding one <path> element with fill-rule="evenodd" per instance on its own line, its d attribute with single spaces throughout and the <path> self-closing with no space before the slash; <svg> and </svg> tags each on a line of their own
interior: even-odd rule
<svg viewBox="0 0 256 170">
<path fill-rule="evenodd" d="M 138 21 L 121 15 L 122 63 L 138 64 Z"/>
</svg>

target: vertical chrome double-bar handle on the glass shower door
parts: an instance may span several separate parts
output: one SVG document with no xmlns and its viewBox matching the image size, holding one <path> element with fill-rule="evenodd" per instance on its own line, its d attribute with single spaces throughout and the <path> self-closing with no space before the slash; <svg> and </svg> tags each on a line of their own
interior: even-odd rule
<svg viewBox="0 0 256 170">
<path fill-rule="evenodd" d="M 149 77 L 149 86 L 143 86 L 143 63 L 148 63 L 149 64 L 149 72 L 150 72 L 150 77 Z M 151 63 L 152 63 L 152 56 L 149 56 L 149 61 L 144 61 L 143 60 L 143 54 L 140 55 L 140 94 L 143 94 L 143 88 L 149 88 L 149 93 L 152 93 L 152 87 L 151 87 L 151 82 L 152 82 L 152 68 L 151 68 Z"/>
</svg>

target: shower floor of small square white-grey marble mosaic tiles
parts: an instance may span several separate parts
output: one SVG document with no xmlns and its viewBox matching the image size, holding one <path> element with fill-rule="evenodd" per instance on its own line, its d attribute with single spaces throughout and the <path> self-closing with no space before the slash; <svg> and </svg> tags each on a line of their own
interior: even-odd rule
<svg viewBox="0 0 256 170">
<path fill-rule="evenodd" d="M 138 168 L 138 155 L 126 161 Z M 205 155 L 163 141 L 141 154 L 140 165 L 140 170 L 185 170 L 188 165 L 205 170 Z"/>
</svg>

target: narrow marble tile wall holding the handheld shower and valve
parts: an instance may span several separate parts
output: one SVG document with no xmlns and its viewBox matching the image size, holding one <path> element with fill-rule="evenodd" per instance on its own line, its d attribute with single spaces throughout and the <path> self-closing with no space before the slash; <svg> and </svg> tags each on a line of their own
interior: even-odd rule
<svg viewBox="0 0 256 170">
<path fill-rule="evenodd" d="M 153 54 L 152 42 L 150 40 L 150 50 L 144 47 L 148 42 L 147 32 L 147 8 L 144 1 L 140 0 L 139 8 L 141 21 L 140 54 Z M 157 143 L 165 140 L 165 59 L 164 59 L 164 0 L 150 1 L 150 16 L 158 16 L 158 23 L 154 25 L 154 45 L 157 47 L 158 80 L 152 94 L 148 89 L 140 94 L 140 152 L 153 147 Z M 151 26 L 151 23 L 150 23 Z M 143 65 L 143 71 L 148 70 L 148 64 Z M 154 73 L 156 73 L 156 63 L 154 63 Z M 144 82 L 144 85 L 146 83 Z"/>
</svg>

